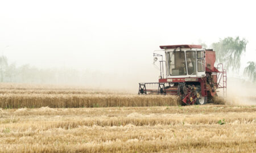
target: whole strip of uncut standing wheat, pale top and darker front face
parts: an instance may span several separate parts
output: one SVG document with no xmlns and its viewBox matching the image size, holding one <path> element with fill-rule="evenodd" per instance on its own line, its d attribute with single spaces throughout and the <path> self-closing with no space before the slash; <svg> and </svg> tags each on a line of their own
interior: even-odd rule
<svg viewBox="0 0 256 153">
<path fill-rule="evenodd" d="M 137 95 L 85 88 L 3 84 L 1 108 L 149 107 L 179 105 L 178 96 Z"/>
</svg>

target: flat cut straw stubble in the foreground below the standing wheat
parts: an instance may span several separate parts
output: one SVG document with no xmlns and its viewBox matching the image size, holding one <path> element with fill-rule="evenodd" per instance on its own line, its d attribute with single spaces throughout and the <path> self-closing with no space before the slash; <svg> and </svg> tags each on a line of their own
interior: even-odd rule
<svg viewBox="0 0 256 153">
<path fill-rule="evenodd" d="M 255 112 L 226 105 L 0 109 L 0 152 L 255 152 Z"/>
</svg>

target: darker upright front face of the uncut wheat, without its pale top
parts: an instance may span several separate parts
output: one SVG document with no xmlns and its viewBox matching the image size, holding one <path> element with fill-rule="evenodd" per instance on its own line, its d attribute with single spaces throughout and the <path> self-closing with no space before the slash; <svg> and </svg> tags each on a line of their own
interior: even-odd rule
<svg viewBox="0 0 256 153">
<path fill-rule="evenodd" d="M 0 94 L 1 108 L 147 107 L 178 105 L 177 96 L 108 94 Z"/>
</svg>

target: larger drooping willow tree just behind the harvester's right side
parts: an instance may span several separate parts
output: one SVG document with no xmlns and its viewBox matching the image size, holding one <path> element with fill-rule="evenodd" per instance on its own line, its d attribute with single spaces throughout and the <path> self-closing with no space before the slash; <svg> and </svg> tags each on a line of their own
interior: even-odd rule
<svg viewBox="0 0 256 153">
<path fill-rule="evenodd" d="M 239 37 L 226 37 L 213 43 L 212 48 L 216 51 L 216 59 L 219 63 L 224 63 L 226 69 L 239 70 L 241 56 L 246 52 L 247 40 Z"/>
</svg>

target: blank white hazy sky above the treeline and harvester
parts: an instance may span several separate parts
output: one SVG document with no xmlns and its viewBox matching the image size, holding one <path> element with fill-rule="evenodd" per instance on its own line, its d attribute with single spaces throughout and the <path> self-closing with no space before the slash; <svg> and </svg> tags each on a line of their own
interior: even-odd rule
<svg viewBox="0 0 256 153">
<path fill-rule="evenodd" d="M 254 1 L 0 1 L 0 53 L 10 62 L 147 73 L 159 45 L 245 37 L 255 61 Z M 155 70 L 152 70 L 155 71 Z"/>
</svg>

